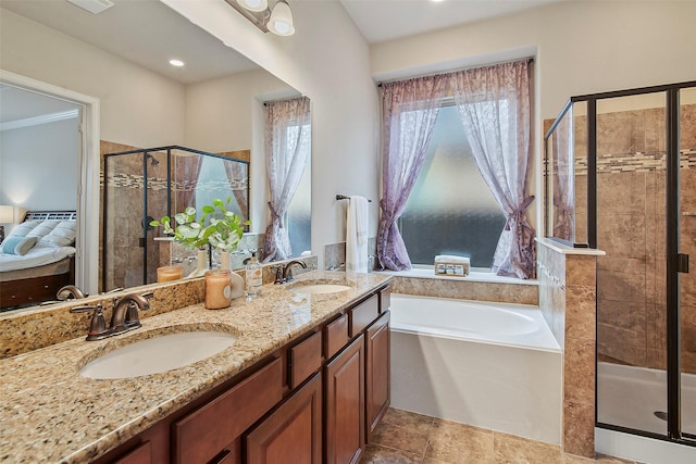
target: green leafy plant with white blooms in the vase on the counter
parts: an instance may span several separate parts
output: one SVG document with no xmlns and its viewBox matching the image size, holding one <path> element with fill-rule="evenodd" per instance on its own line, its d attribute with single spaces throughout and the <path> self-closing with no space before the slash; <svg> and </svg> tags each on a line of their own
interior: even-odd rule
<svg viewBox="0 0 696 464">
<path fill-rule="evenodd" d="M 220 251 L 234 251 L 244 235 L 244 226 L 251 223 L 243 223 L 240 216 L 227 211 L 231 202 L 232 198 L 227 198 L 226 202 L 214 199 L 212 205 L 201 208 L 200 218 L 196 218 L 196 209 L 188 206 L 174 215 L 175 227 L 172 227 L 170 216 L 151 221 L 150 225 L 164 227 L 164 234 L 173 235 L 175 242 L 185 244 L 189 250 L 203 249 L 208 244 Z"/>
</svg>

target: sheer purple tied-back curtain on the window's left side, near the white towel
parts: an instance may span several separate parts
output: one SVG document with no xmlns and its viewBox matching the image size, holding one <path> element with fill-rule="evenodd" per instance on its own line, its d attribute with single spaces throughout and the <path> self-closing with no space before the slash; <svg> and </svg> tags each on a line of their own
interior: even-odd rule
<svg viewBox="0 0 696 464">
<path fill-rule="evenodd" d="M 382 268 L 411 268 L 411 260 L 396 222 L 421 172 L 440 99 L 444 75 L 388 83 L 382 86 L 382 184 L 377 259 Z"/>
</svg>

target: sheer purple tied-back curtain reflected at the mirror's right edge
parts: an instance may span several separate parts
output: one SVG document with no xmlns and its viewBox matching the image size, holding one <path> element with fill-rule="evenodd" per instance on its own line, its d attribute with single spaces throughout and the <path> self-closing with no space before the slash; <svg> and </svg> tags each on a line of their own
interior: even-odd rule
<svg viewBox="0 0 696 464">
<path fill-rule="evenodd" d="M 283 216 L 302 178 L 310 152 L 310 101 L 296 98 L 266 103 L 265 166 L 269 178 L 271 222 L 265 229 L 263 261 L 293 255 Z"/>
</svg>

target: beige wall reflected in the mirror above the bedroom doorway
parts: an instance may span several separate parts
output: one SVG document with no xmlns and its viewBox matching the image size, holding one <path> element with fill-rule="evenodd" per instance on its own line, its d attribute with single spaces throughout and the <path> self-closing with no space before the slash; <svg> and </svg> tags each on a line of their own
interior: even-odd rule
<svg viewBox="0 0 696 464">
<path fill-rule="evenodd" d="M 0 39 L 0 68 L 98 98 L 102 139 L 182 143 L 184 85 L 8 10 Z"/>
</svg>

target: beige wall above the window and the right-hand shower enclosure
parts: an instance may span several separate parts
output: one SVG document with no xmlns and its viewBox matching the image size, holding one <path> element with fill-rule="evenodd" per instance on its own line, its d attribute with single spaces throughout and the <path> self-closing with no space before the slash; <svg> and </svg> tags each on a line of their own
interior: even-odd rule
<svg viewBox="0 0 696 464">
<path fill-rule="evenodd" d="M 696 78 L 693 1 L 567 1 L 371 47 L 377 77 L 526 57 L 536 50 L 536 170 L 542 217 L 542 121 L 569 97 Z M 534 206 L 533 206 L 534 208 Z M 539 223 L 539 221 L 535 221 Z M 537 227 L 539 228 L 539 227 Z"/>
</svg>

